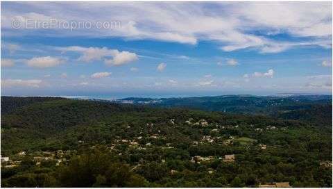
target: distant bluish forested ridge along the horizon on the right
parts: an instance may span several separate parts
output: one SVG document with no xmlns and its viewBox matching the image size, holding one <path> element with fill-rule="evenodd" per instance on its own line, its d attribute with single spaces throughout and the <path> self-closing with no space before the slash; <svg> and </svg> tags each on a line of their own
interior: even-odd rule
<svg viewBox="0 0 333 189">
<path fill-rule="evenodd" d="M 216 97 L 183 97 L 183 98 L 125 98 L 118 102 L 131 104 L 151 104 L 162 107 L 187 107 L 200 110 L 223 111 L 229 113 L 263 113 L 270 114 L 282 110 L 304 110 L 314 105 L 332 106 L 332 95 L 291 95 L 253 96 L 222 95 Z"/>
</svg>

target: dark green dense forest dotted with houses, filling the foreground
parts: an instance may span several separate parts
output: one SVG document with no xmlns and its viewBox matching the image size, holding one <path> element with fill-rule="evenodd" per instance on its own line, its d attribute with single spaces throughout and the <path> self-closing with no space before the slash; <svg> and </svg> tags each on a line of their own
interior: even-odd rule
<svg viewBox="0 0 333 189">
<path fill-rule="evenodd" d="M 332 101 L 278 105 L 1 97 L 1 186 L 332 187 Z"/>
</svg>

